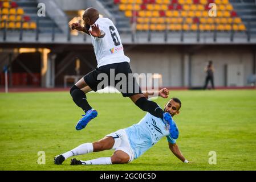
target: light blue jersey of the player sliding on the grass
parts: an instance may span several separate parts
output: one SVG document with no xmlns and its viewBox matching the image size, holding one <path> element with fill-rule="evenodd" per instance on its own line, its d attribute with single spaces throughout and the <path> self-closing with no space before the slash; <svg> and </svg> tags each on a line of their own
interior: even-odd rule
<svg viewBox="0 0 256 182">
<path fill-rule="evenodd" d="M 157 118 L 149 113 L 139 123 L 124 130 L 128 135 L 135 159 L 164 136 L 166 136 L 168 142 L 176 143 L 176 140 L 170 137 L 169 125 L 164 123 L 161 118 Z"/>
</svg>

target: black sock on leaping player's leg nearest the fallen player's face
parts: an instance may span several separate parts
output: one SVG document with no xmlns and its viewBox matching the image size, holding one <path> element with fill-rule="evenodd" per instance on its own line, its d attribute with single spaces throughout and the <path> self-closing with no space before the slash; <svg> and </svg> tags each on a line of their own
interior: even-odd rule
<svg viewBox="0 0 256 182">
<path fill-rule="evenodd" d="M 159 105 L 156 104 L 156 102 L 149 101 L 147 98 L 141 97 L 136 101 L 135 104 L 140 107 L 140 109 L 162 119 L 162 114 L 164 114 L 164 111 L 159 107 Z"/>
</svg>

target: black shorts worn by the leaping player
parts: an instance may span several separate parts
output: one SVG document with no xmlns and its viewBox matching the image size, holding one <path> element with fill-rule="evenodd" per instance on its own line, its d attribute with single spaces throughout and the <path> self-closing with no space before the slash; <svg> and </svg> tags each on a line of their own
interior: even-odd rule
<svg viewBox="0 0 256 182">
<path fill-rule="evenodd" d="M 95 92 L 107 86 L 113 86 L 124 97 L 142 93 L 128 62 L 113 63 L 96 68 L 84 76 L 84 81 Z"/>
</svg>

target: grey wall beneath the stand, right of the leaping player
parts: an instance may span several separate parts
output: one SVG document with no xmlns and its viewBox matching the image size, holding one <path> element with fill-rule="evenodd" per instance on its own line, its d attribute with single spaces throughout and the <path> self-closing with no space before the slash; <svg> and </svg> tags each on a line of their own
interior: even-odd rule
<svg viewBox="0 0 256 182">
<path fill-rule="evenodd" d="M 203 86 L 204 68 L 209 60 L 214 64 L 216 86 L 247 86 L 247 77 L 255 74 L 255 49 L 250 46 L 151 45 L 128 47 L 125 53 L 131 59 L 133 72 L 160 73 L 162 86 Z M 236 65 L 242 71 L 230 73 L 229 69 L 227 73 L 227 67 Z M 229 85 L 228 74 L 238 74 L 242 81 Z"/>
</svg>

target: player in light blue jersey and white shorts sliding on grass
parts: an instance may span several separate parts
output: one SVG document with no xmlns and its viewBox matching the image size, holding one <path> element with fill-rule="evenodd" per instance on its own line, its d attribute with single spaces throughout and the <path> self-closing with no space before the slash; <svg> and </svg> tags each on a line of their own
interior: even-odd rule
<svg viewBox="0 0 256 182">
<path fill-rule="evenodd" d="M 161 96 L 168 96 L 168 92 L 165 93 L 163 92 L 163 89 L 159 91 Z M 139 158 L 140 155 L 144 154 L 145 151 L 151 148 L 162 137 L 167 138 L 169 149 L 173 152 L 173 154 L 182 162 L 188 163 L 188 160 L 186 160 L 181 154 L 181 151 L 176 143 L 176 139 L 173 139 L 171 135 L 177 130 L 177 126 L 172 117 L 180 113 L 180 107 L 181 101 L 178 100 L 178 98 L 172 98 L 164 107 L 165 115 L 169 115 L 169 121 L 171 122 L 147 113 L 145 117 L 136 125 L 132 125 L 126 129 L 117 130 L 114 133 L 106 135 L 103 139 L 100 139 L 97 142 L 81 144 L 71 151 L 56 156 L 54 158 L 54 163 L 62 164 L 64 160 L 70 158 L 71 156 L 110 149 L 115 150 L 111 157 L 86 161 L 71 159 L 71 165 L 129 163 L 132 162 L 132 160 Z"/>
</svg>

